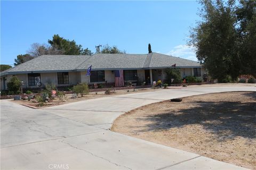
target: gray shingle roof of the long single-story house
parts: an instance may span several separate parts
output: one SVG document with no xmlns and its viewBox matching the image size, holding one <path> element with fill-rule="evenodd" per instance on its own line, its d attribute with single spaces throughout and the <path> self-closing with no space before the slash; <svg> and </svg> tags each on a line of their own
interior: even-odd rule
<svg viewBox="0 0 256 170">
<path fill-rule="evenodd" d="M 5 74 L 28 72 L 82 71 L 92 65 L 92 70 L 149 69 L 177 67 L 201 67 L 198 62 L 169 55 L 150 54 L 94 54 L 86 55 L 42 55 L 9 70 Z"/>
</svg>

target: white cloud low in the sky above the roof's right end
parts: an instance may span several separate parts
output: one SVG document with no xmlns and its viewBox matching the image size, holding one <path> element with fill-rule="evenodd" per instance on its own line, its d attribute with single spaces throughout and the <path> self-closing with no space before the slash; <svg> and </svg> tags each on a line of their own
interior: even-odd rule
<svg viewBox="0 0 256 170">
<path fill-rule="evenodd" d="M 193 48 L 187 45 L 178 45 L 175 46 L 167 55 L 172 55 L 175 57 L 185 58 L 188 60 L 197 61 L 196 53 Z"/>
</svg>

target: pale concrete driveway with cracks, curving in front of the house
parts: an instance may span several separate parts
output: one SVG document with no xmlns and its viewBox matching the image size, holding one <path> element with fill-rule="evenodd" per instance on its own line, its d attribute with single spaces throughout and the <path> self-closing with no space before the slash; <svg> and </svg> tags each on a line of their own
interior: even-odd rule
<svg viewBox="0 0 256 170">
<path fill-rule="evenodd" d="M 1 100 L 1 169 L 245 169 L 111 132 L 119 115 L 158 101 L 254 86 L 163 89 L 32 109 Z"/>
</svg>

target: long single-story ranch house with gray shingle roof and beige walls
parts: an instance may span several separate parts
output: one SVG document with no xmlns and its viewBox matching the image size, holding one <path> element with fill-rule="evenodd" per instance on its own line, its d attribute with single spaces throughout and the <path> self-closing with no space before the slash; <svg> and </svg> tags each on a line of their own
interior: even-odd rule
<svg viewBox="0 0 256 170">
<path fill-rule="evenodd" d="M 1 90 L 13 75 L 24 82 L 23 88 L 37 88 L 36 82 L 53 83 L 57 87 L 78 83 L 115 83 L 115 70 L 123 70 L 125 82 L 165 79 L 165 69 L 180 68 L 181 76 L 202 77 L 204 70 L 195 62 L 159 53 L 149 54 L 101 54 L 42 55 L 1 72 Z M 91 75 L 86 70 L 92 65 Z"/>
</svg>

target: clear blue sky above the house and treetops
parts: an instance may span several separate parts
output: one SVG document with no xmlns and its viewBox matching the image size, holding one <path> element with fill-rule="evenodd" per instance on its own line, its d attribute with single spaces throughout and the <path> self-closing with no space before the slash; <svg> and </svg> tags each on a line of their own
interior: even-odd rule
<svg viewBox="0 0 256 170">
<path fill-rule="evenodd" d="M 153 52 L 196 60 L 186 44 L 198 7 L 196 1 L 1 1 L 1 64 L 13 64 L 54 34 L 92 52 L 108 44 L 146 54 L 150 43 Z"/>
</svg>

